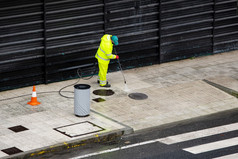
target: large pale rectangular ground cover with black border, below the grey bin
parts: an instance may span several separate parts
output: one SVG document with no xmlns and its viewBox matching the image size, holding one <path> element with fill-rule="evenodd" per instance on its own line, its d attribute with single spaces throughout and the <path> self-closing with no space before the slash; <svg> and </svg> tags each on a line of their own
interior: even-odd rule
<svg viewBox="0 0 238 159">
<path fill-rule="evenodd" d="M 81 123 L 54 128 L 54 130 L 68 137 L 78 137 L 78 136 L 83 136 L 83 135 L 103 131 L 105 129 L 96 124 L 85 121 Z"/>
</svg>

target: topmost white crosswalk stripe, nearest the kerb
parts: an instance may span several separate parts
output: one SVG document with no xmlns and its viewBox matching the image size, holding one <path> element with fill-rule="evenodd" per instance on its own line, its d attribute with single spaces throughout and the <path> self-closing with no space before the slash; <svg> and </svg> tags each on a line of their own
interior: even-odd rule
<svg viewBox="0 0 238 159">
<path fill-rule="evenodd" d="M 189 141 L 189 140 L 193 140 L 193 139 L 198 139 L 198 138 L 207 137 L 207 136 L 211 136 L 211 135 L 221 134 L 224 132 L 229 132 L 229 131 L 234 131 L 234 130 L 238 130 L 238 123 L 222 125 L 222 126 L 218 126 L 218 127 L 213 127 L 213 128 L 193 131 L 193 132 L 189 132 L 189 133 L 169 136 L 169 137 L 161 138 L 158 141 L 170 145 L 170 144 L 174 144 L 174 143 Z"/>
</svg>

